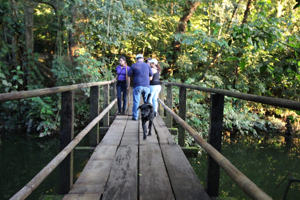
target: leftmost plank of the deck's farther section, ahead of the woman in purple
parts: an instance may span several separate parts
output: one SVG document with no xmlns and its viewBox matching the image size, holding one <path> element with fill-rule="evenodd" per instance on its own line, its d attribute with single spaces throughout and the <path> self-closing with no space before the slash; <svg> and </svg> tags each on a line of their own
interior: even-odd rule
<svg viewBox="0 0 300 200">
<path fill-rule="evenodd" d="M 110 126 L 109 130 L 106 132 L 104 138 L 101 140 L 99 145 L 120 145 L 125 125 L 127 123 L 127 115 L 116 116 L 113 124 Z"/>
</svg>

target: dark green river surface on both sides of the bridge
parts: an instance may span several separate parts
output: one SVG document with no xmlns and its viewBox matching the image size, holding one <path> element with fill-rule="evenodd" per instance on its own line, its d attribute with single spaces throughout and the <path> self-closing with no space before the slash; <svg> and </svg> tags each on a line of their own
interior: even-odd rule
<svg viewBox="0 0 300 200">
<path fill-rule="evenodd" d="M 32 138 L 1 136 L 0 149 L 0 199 L 10 199 L 40 172 L 59 152 L 59 141 L 55 138 Z M 80 144 L 80 143 L 79 143 Z M 74 152 L 74 182 L 84 168 L 91 153 Z M 292 173 L 300 179 L 300 140 L 285 143 L 282 136 L 276 138 L 243 137 L 229 142 L 225 139 L 222 154 L 244 175 L 253 181 L 274 200 L 283 196 L 287 179 Z M 205 187 L 207 155 L 188 159 Z M 58 194 L 58 169 L 56 168 L 27 199 L 37 200 L 43 195 Z M 220 171 L 221 196 L 250 199 L 226 175 Z M 300 183 L 291 184 L 287 199 L 300 199 Z"/>
</svg>

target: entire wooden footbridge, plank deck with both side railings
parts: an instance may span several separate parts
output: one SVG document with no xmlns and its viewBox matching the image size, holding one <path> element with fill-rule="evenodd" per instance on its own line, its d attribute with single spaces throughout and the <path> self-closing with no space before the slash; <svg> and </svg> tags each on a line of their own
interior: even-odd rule
<svg viewBox="0 0 300 200">
<path fill-rule="evenodd" d="M 111 98 L 109 95 L 110 84 L 112 84 Z M 104 109 L 99 114 L 100 85 L 102 85 Z M 167 87 L 167 95 L 164 94 L 164 85 Z M 163 114 L 165 109 L 167 126 L 158 115 L 154 119 L 152 136 L 143 140 L 141 119 L 131 120 L 130 113 L 133 104 L 131 102 L 128 109 L 130 113 L 117 115 L 100 143 L 98 141 L 98 122 L 102 119 L 104 127 L 108 127 L 109 111 L 111 109 L 111 114 L 116 111 L 116 83 L 114 81 L 0 94 L 0 102 L 6 102 L 61 93 L 61 152 L 11 199 L 26 199 L 58 165 L 60 168 L 59 193 L 64 194 L 64 200 L 210 199 L 209 196 L 219 196 L 220 168 L 251 199 L 271 199 L 220 154 L 224 96 L 298 111 L 300 111 L 300 102 L 174 82 L 161 81 L 161 86 L 160 97 L 162 100 L 158 99 L 158 101 L 162 107 L 159 113 Z M 173 106 L 172 86 L 179 87 L 178 115 L 170 109 Z M 73 138 L 74 90 L 82 88 L 90 88 L 90 123 Z M 211 93 L 208 142 L 185 122 L 187 89 Z M 111 99 L 111 103 L 109 99 Z M 164 99 L 166 99 L 166 104 Z M 132 100 L 132 94 L 130 100 Z M 140 103 L 142 102 L 141 100 Z M 173 127 L 173 119 L 179 124 L 179 145 L 173 140 L 167 128 Z M 182 152 L 181 146 L 185 145 L 186 131 L 208 154 L 205 190 Z M 73 184 L 72 151 L 88 133 L 89 145 L 96 146 L 96 148 L 79 178 Z"/>
</svg>

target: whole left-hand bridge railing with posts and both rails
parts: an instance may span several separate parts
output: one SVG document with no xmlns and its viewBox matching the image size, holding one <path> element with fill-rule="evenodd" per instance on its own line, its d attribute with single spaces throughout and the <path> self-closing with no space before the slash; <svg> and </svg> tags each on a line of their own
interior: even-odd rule
<svg viewBox="0 0 300 200">
<path fill-rule="evenodd" d="M 110 87 L 111 103 L 109 103 Z M 99 86 L 103 85 L 103 108 L 99 114 Z M 74 139 L 74 90 L 90 87 L 90 123 Z M 42 181 L 59 165 L 59 193 L 67 194 L 73 185 L 73 149 L 89 133 L 89 146 L 99 143 L 99 121 L 103 119 L 103 126 L 109 126 L 109 110 L 116 112 L 116 84 L 114 81 L 91 82 L 68 85 L 54 88 L 44 88 L 31 91 L 20 91 L 0 94 L 0 102 L 21 100 L 49 94 L 61 93 L 61 127 L 60 127 L 60 153 L 44 167 L 26 186 L 24 186 L 11 199 L 25 199 L 38 187 Z M 113 108 L 113 109 L 111 109 Z"/>
</svg>

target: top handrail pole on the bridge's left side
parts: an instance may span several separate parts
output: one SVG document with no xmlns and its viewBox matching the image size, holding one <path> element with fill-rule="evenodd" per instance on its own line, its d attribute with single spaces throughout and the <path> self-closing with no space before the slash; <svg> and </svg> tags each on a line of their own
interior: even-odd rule
<svg viewBox="0 0 300 200">
<path fill-rule="evenodd" d="M 111 80 L 111 81 L 80 83 L 76 85 L 66 85 L 66 86 L 59 86 L 54 88 L 43 88 L 43 89 L 36 89 L 36 90 L 3 93 L 0 94 L 0 102 L 20 100 L 20 99 L 26 99 L 31 97 L 39 97 L 39 96 L 44 96 L 49 94 L 56 94 L 56 93 L 67 92 L 71 90 L 89 88 L 97 85 L 106 85 L 112 82 L 114 81 Z"/>
</svg>

